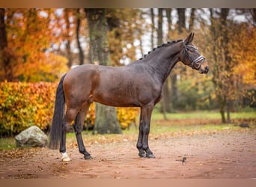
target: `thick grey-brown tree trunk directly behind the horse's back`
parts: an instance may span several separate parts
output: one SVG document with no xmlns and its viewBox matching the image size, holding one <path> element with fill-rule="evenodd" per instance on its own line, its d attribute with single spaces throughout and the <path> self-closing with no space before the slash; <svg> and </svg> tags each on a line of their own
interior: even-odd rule
<svg viewBox="0 0 256 187">
<path fill-rule="evenodd" d="M 108 25 L 106 9 L 85 9 L 90 37 L 90 61 L 92 64 L 109 65 Z M 114 107 L 96 103 L 94 133 L 122 133 Z"/>
</svg>

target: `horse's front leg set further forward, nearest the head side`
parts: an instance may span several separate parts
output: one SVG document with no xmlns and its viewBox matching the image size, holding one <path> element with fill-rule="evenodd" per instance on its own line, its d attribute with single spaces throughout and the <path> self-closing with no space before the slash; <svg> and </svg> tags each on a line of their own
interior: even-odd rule
<svg viewBox="0 0 256 187">
<path fill-rule="evenodd" d="M 147 158 L 155 158 L 152 151 L 148 146 L 148 135 L 150 132 L 150 119 L 153 111 L 153 105 L 145 105 L 141 107 L 141 122 L 140 122 L 140 132 L 142 134 L 142 150 L 146 153 Z M 139 135 L 138 141 L 141 141 Z M 139 150 L 140 151 L 140 150 Z"/>
</svg>

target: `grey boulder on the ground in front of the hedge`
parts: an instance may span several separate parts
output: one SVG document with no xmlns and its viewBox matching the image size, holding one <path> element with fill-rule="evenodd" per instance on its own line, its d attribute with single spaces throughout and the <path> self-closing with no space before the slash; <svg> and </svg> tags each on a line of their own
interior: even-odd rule
<svg viewBox="0 0 256 187">
<path fill-rule="evenodd" d="M 16 147 L 45 147 L 47 135 L 37 126 L 30 126 L 15 136 Z"/>
</svg>

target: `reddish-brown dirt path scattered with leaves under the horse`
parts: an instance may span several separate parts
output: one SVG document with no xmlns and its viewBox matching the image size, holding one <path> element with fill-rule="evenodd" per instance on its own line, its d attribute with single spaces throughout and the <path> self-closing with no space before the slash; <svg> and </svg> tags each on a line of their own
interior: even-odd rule
<svg viewBox="0 0 256 187">
<path fill-rule="evenodd" d="M 0 178 L 256 178 L 255 129 L 150 138 L 156 159 L 139 158 L 135 144 L 91 144 L 93 160 L 71 148 L 71 162 L 47 148 L 0 151 Z"/>
</svg>

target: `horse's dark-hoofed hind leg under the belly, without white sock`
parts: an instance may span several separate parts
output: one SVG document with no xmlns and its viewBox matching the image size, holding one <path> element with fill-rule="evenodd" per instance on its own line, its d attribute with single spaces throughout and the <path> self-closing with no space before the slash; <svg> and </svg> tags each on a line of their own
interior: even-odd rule
<svg viewBox="0 0 256 187">
<path fill-rule="evenodd" d="M 82 107 L 82 109 L 79 111 L 79 113 L 76 116 L 76 121 L 74 124 L 74 129 L 76 132 L 76 141 L 79 147 L 79 153 L 84 154 L 85 159 L 93 159 L 88 153 L 88 151 L 85 149 L 85 145 L 82 140 L 82 128 L 83 128 L 83 123 L 85 120 L 85 116 L 87 114 L 88 108 L 91 105 L 91 102 L 85 102 L 85 105 Z"/>
</svg>

